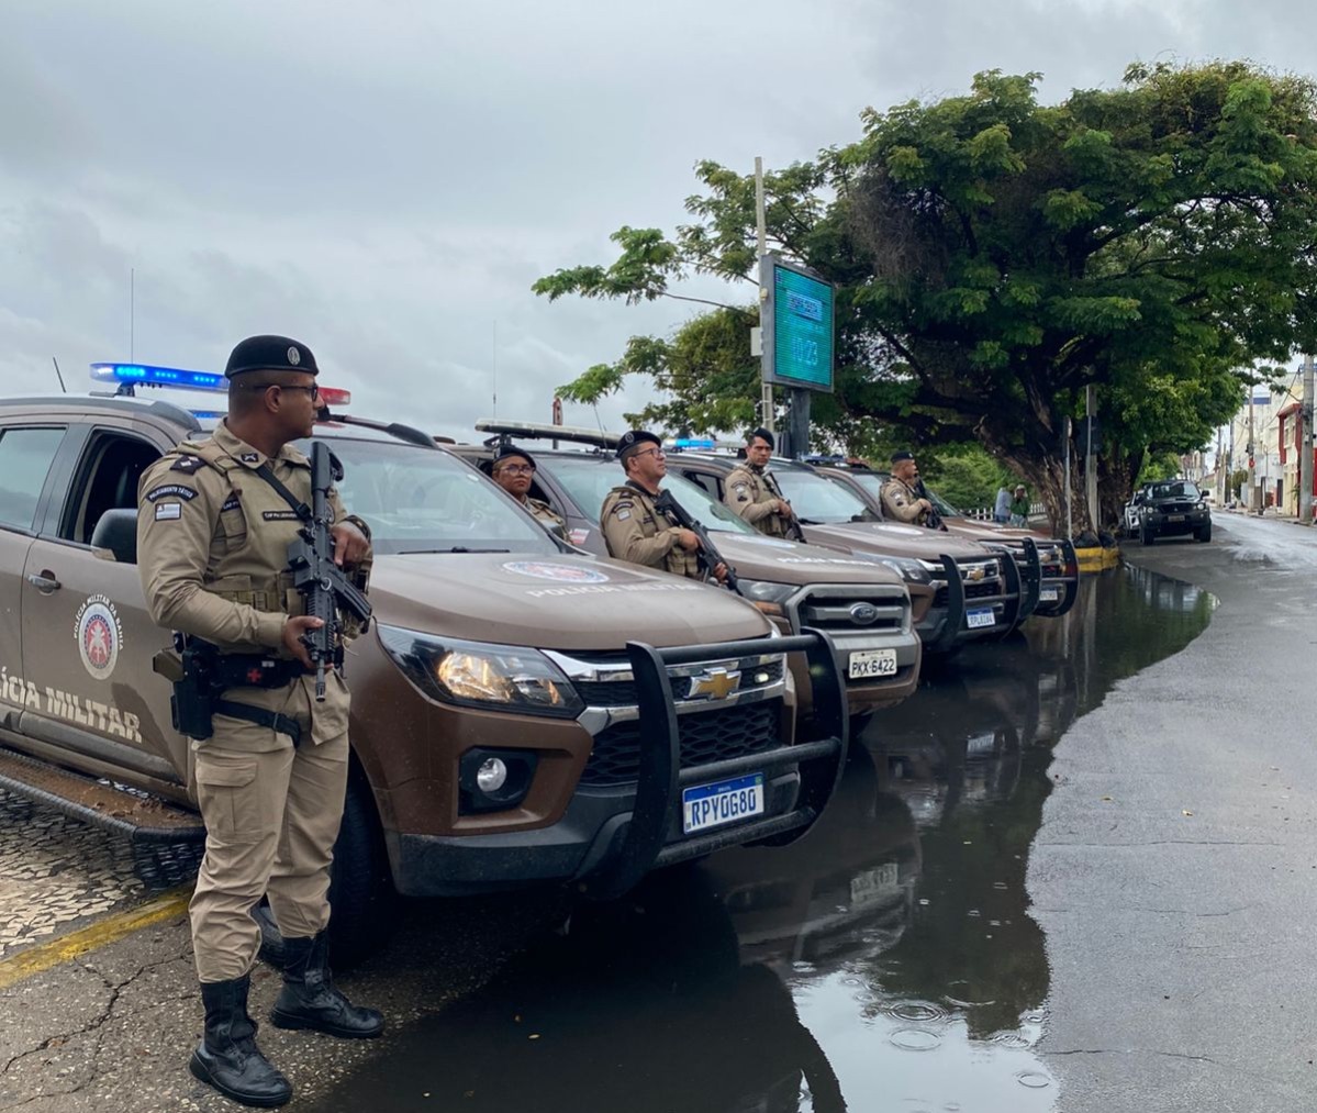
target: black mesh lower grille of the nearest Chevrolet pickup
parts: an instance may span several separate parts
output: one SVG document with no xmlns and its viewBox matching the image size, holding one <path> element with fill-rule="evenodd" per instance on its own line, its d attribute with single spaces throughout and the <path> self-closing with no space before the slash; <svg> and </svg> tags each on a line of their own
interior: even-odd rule
<svg viewBox="0 0 1317 1113">
<path fill-rule="evenodd" d="M 776 749 L 781 706 L 780 699 L 768 699 L 678 715 L 682 768 Z M 581 784 L 624 785 L 639 774 L 640 723 L 631 719 L 614 723 L 595 736 Z"/>
</svg>

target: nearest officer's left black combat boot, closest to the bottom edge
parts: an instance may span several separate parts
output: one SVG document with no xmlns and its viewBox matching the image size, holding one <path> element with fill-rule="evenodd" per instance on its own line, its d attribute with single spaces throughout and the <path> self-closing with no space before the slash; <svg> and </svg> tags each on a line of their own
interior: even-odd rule
<svg viewBox="0 0 1317 1113">
<path fill-rule="evenodd" d="M 225 1097 L 273 1109 L 292 1097 L 292 1087 L 255 1046 L 255 1021 L 246 1010 L 249 985 L 248 975 L 202 983 L 205 1034 L 188 1067 Z"/>
</svg>

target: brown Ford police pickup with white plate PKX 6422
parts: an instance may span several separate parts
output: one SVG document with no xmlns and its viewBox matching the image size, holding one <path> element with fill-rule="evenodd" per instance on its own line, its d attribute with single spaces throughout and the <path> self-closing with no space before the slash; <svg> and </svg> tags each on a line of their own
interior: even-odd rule
<svg viewBox="0 0 1317 1113">
<path fill-rule="evenodd" d="M 551 503 L 568 522 L 572 541 L 598 556 L 608 549 L 599 532 L 599 508 L 610 489 L 623 482 L 614 456 L 618 436 L 562 425 L 481 421 L 490 444 L 453 445 L 489 468 L 494 447 L 514 440 L 535 444 L 537 465 L 532 497 Z M 568 441 L 593 452 L 553 450 L 539 441 Z M 739 593 L 773 619 L 782 634 L 824 630 L 838 655 L 853 715 L 898 703 L 919 680 L 921 644 L 911 597 L 932 597 L 932 587 L 906 590 L 900 573 L 868 555 L 848 555 L 765 537 L 727 507 L 669 473 L 668 490 L 702 523 L 719 553 L 736 570 Z M 809 692 L 803 656 L 792 657 L 798 688 Z"/>
</svg>

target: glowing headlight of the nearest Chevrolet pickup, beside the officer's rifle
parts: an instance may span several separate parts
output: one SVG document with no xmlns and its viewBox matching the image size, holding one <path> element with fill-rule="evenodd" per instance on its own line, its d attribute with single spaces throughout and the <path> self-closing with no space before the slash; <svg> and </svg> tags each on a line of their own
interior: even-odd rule
<svg viewBox="0 0 1317 1113">
<path fill-rule="evenodd" d="M 403 674 L 435 699 L 564 719 L 585 707 L 572 682 L 539 649 L 435 638 L 383 623 L 375 628 Z"/>
</svg>

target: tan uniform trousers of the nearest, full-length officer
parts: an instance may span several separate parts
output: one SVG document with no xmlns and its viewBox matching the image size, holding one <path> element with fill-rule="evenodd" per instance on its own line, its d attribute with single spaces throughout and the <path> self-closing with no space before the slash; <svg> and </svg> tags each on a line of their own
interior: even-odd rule
<svg viewBox="0 0 1317 1113">
<path fill-rule="evenodd" d="M 242 977 L 255 963 L 261 929 L 250 913 L 266 893 L 286 938 L 315 935 L 329 922 L 348 732 L 316 744 L 307 717 L 295 718 L 296 748 L 284 734 L 227 715 L 215 717 L 212 738 L 192 743 L 205 859 L 188 911 L 202 981 Z"/>
</svg>

